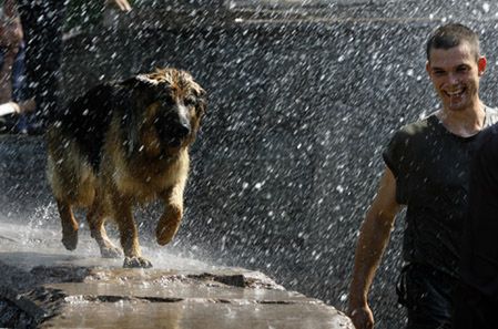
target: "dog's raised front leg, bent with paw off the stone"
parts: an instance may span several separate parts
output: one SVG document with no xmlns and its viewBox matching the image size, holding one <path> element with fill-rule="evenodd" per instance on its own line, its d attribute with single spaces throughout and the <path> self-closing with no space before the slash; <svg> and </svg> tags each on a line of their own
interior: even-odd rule
<svg viewBox="0 0 498 329">
<path fill-rule="evenodd" d="M 155 228 L 155 237 L 161 246 L 173 239 L 182 223 L 184 187 L 185 182 L 181 182 L 161 194 L 164 199 L 164 213 Z"/>
</svg>

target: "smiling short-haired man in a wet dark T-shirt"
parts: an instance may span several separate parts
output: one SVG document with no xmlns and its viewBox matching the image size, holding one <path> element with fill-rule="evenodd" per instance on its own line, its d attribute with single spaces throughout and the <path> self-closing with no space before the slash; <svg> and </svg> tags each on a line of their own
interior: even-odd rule
<svg viewBox="0 0 498 329">
<path fill-rule="evenodd" d="M 477 135 L 498 121 L 498 112 L 479 97 L 486 59 L 474 31 L 443 25 L 426 50 L 441 107 L 402 127 L 383 154 L 386 168 L 360 228 L 349 289 L 348 312 L 357 329 L 374 327 L 368 291 L 403 206 L 405 266 L 397 291 L 408 310 L 407 328 L 451 327 L 469 163 Z"/>
</svg>

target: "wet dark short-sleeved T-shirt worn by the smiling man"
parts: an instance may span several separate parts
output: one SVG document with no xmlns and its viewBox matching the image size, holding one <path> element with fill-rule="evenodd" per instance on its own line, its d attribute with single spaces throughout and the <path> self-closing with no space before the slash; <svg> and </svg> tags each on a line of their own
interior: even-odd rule
<svg viewBox="0 0 498 329">
<path fill-rule="evenodd" d="M 498 112 L 486 109 L 485 126 L 496 121 Z M 433 114 L 400 128 L 384 152 L 396 177 L 396 201 L 407 206 L 405 261 L 457 276 L 469 164 L 478 135 L 455 135 Z"/>
</svg>

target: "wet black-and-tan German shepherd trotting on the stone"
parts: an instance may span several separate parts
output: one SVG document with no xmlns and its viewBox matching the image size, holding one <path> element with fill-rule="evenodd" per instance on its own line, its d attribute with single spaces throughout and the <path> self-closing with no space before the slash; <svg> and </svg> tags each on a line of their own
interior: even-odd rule
<svg viewBox="0 0 498 329">
<path fill-rule="evenodd" d="M 164 203 L 156 239 L 174 237 L 183 216 L 189 146 L 206 107 L 204 90 L 184 72 L 161 69 L 104 83 L 75 99 L 48 131 L 48 178 L 62 222 L 62 244 L 73 250 L 87 209 L 102 257 L 121 257 L 104 222 L 118 224 L 124 267 L 151 267 L 142 257 L 132 207 Z"/>
</svg>

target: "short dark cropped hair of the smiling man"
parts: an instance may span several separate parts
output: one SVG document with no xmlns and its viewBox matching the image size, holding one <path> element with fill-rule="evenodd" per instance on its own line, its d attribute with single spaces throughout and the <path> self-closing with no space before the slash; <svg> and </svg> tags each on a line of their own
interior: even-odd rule
<svg viewBox="0 0 498 329">
<path fill-rule="evenodd" d="M 448 50 L 460 45 L 461 42 L 468 42 L 470 51 L 475 54 L 477 61 L 480 56 L 479 35 L 459 23 L 445 24 L 430 34 L 426 47 L 427 60 L 430 61 L 430 51 L 433 49 Z"/>
</svg>

